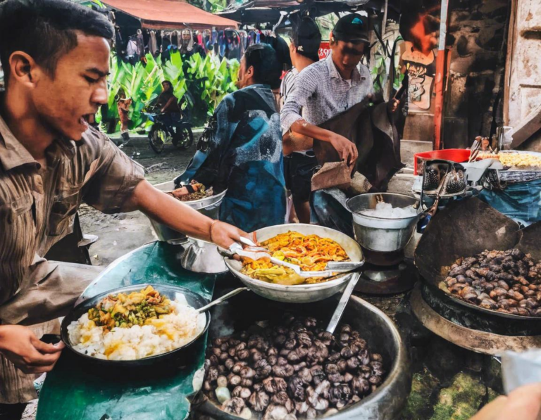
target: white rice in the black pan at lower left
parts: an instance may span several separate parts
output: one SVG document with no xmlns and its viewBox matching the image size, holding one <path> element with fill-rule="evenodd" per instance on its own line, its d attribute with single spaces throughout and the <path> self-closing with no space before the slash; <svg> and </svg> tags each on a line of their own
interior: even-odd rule
<svg viewBox="0 0 541 420">
<path fill-rule="evenodd" d="M 68 326 L 70 343 L 77 352 L 108 360 L 135 360 L 170 352 L 192 341 L 205 326 L 205 314 L 179 299 L 173 313 L 151 320 L 151 325 L 116 327 L 105 333 L 83 314 Z"/>
</svg>

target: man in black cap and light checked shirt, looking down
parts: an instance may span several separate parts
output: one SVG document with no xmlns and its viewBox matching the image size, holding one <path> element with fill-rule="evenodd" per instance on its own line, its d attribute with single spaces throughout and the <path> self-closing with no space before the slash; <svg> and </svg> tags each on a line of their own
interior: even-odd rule
<svg viewBox="0 0 541 420">
<path fill-rule="evenodd" d="M 359 155 L 352 141 L 317 126 L 373 93 L 370 70 L 358 67 L 368 53 L 368 43 L 365 16 L 351 13 L 340 18 L 331 32 L 332 53 L 299 74 L 280 115 L 282 129 L 332 144 L 350 166 Z M 394 112 L 398 103 L 392 99 L 388 109 Z"/>
</svg>

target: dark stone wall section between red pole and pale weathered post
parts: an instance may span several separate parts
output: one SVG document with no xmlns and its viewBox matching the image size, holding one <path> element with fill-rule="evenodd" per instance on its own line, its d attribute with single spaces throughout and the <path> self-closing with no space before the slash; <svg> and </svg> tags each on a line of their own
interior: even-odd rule
<svg viewBox="0 0 541 420">
<path fill-rule="evenodd" d="M 449 2 L 444 148 L 465 148 L 475 136 L 490 136 L 493 115 L 502 122 L 509 8 L 510 0 Z"/>
</svg>

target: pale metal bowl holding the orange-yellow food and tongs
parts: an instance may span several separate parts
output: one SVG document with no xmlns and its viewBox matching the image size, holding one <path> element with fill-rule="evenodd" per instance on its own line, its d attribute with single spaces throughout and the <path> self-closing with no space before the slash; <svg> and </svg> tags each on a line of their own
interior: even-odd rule
<svg viewBox="0 0 541 420">
<path fill-rule="evenodd" d="M 328 227 L 316 226 L 313 224 L 278 224 L 276 226 L 264 227 L 256 231 L 258 241 L 266 241 L 278 234 L 285 234 L 288 231 L 297 231 L 303 235 L 318 235 L 322 238 L 330 238 L 344 248 L 349 259 L 354 262 L 363 261 L 363 253 L 361 247 L 356 241 L 342 232 L 329 229 Z M 242 274 L 242 262 L 232 260 L 228 257 L 224 258 L 225 265 L 228 266 L 230 272 L 234 274 L 242 283 L 250 288 L 254 293 L 271 300 L 289 303 L 308 303 L 316 302 L 329 298 L 335 293 L 340 293 L 344 290 L 352 274 L 342 274 L 333 277 L 332 280 L 324 281 L 318 284 L 297 284 L 294 286 L 284 286 L 282 284 L 268 283 L 262 280 L 252 279 L 246 274 Z"/>
</svg>

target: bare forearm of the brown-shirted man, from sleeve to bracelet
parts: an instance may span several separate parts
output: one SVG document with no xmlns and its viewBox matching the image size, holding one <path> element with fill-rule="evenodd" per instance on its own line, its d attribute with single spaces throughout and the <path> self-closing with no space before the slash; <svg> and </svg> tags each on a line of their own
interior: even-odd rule
<svg viewBox="0 0 541 420">
<path fill-rule="evenodd" d="M 166 224 L 171 229 L 182 231 L 187 236 L 210 241 L 210 217 L 190 208 L 188 205 L 154 188 L 149 182 L 139 182 L 130 198 L 130 207 Z"/>
</svg>

